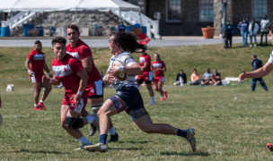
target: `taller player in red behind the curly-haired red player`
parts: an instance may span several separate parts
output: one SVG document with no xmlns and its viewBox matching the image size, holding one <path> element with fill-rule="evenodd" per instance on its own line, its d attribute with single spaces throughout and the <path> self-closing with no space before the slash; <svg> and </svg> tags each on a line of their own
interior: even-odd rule
<svg viewBox="0 0 273 161">
<path fill-rule="evenodd" d="M 91 124 L 91 130 L 89 135 L 92 136 L 99 127 L 99 117 L 97 112 L 103 104 L 103 88 L 104 84 L 101 80 L 101 75 L 98 69 L 95 67 L 92 59 L 92 52 L 84 41 L 80 39 L 80 30 L 77 25 L 69 24 L 66 26 L 66 38 L 69 40 L 69 44 L 66 46 L 66 53 L 74 56 L 76 59 L 82 62 L 85 71 L 88 73 L 89 78 L 86 84 L 85 92 L 89 98 L 89 104 L 92 107 L 93 116 L 95 121 Z M 89 113 L 83 113 L 83 116 Z M 110 122 L 110 142 L 119 140 L 119 135 L 115 131 L 112 123 Z"/>
</svg>

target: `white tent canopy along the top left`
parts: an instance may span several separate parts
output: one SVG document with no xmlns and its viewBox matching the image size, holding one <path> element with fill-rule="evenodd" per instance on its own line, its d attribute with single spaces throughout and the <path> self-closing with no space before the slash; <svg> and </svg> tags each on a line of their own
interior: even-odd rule
<svg viewBox="0 0 273 161">
<path fill-rule="evenodd" d="M 139 11 L 137 5 L 121 0 L 0 0 L 0 4 L 0 12 L 55 12 L 66 10 Z"/>
</svg>

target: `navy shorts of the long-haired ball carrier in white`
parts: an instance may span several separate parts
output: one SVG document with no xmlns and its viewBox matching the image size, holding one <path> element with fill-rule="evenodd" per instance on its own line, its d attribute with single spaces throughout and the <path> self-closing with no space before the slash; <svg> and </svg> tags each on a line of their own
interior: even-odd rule
<svg viewBox="0 0 273 161">
<path fill-rule="evenodd" d="M 116 95 L 109 99 L 116 106 L 118 113 L 126 111 L 133 121 L 148 114 L 139 90 L 136 87 L 126 87 L 125 84 L 121 84 L 117 87 L 116 91 Z"/>
</svg>

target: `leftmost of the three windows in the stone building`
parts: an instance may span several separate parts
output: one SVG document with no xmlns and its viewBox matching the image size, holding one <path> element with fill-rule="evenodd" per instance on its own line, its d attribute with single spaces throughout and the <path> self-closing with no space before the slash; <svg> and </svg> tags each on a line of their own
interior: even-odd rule
<svg viewBox="0 0 273 161">
<path fill-rule="evenodd" d="M 166 21 L 181 21 L 181 0 L 166 0 Z"/>
</svg>

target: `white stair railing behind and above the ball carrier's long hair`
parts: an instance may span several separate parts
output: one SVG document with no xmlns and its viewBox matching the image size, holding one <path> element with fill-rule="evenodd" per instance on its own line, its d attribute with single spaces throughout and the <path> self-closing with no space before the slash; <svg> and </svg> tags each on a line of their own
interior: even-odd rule
<svg viewBox="0 0 273 161">
<path fill-rule="evenodd" d="M 141 14 L 141 16 L 139 16 L 139 13 L 132 11 L 119 13 L 119 10 L 113 10 L 111 12 L 119 16 L 119 18 L 122 18 L 124 21 L 128 21 L 128 23 L 130 23 L 131 25 L 134 25 L 136 23 L 142 23 L 142 25 L 146 27 L 147 30 L 146 36 L 148 38 L 152 37 L 151 33 L 154 34 L 154 38 L 161 38 L 158 33 L 159 31 L 158 21 L 153 21 L 144 14 Z"/>
</svg>

